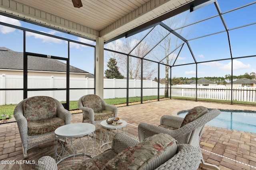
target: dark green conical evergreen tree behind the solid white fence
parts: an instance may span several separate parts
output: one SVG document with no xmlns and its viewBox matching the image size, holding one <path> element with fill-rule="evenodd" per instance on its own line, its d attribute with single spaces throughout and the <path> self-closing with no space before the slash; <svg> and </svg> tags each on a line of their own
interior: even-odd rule
<svg viewBox="0 0 256 170">
<path fill-rule="evenodd" d="M 110 58 L 107 64 L 109 69 L 105 70 L 106 78 L 123 79 L 124 76 L 119 72 L 115 58 Z"/>
</svg>

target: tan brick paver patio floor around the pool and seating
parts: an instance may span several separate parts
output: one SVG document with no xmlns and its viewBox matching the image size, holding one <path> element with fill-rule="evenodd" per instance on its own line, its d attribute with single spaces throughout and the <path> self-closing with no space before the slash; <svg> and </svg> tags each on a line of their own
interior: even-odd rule
<svg viewBox="0 0 256 170">
<path fill-rule="evenodd" d="M 160 117 L 162 115 L 177 115 L 178 112 L 189 110 L 195 106 L 205 106 L 209 109 L 216 108 L 256 111 L 256 107 L 254 106 L 238 106 L 184 100 L 163 100 L 160 102 L 149 102 L 145 104 L 118 107 L 118 117 L 128 122 L 128 132 L 138 135 L 137 127 L 140 122 L 159 125 Z M 81 121 L 82 113 L 72 115 L 72 123 Z M 49 143 L 48 145 L 52 145 L 52 143 Z M 5 158 L 15 156 L 17 154 L 22 154 L 21 146 L 17 123 L 1 124 L 0 160 L 4 160 Z M 39 149 L 40 147 L 45 146 L 47 146 L 47 143 L 39 146 Z M 205 162 L 215 164 L 221 170 L 256 169 L 256 133 L 206 125 L 200 139 L 200 147 L 202 149 Z"/>
</svg>

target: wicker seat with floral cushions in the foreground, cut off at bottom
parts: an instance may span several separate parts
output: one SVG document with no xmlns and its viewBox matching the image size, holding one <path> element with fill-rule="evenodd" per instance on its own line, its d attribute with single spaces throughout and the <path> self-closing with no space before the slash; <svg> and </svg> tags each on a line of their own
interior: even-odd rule
<svg viewBox="0 0 256 170">
<path fill-rule="evenodd" d="M 139 142 L 124 133 L 117 133 L 112 142 L 112 149 L 84 162 L 65 167 L 62 170 L 196 170 L 200 164 L 200 150 L 192 145 L 177 145 L 170 135 L 160 133 Z M 57 170 L 55 160 L 43 156 L 36 170 Z"/>
</svg>

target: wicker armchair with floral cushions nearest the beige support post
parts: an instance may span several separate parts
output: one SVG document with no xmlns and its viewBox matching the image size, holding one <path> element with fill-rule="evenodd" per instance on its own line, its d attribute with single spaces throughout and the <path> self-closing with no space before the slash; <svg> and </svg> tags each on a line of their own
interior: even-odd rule
<svg viewBox="0 0 256 170">
<path fill-rule="evenodd" d="M 82 96 L 78 100 L 78 108 L 83 111 L 83 123 L 92 123 L 96 129 L 100 122 L 111 117 L 117 117 L 117 107 L 106 102 L 95 94 Z"/>
</svg>

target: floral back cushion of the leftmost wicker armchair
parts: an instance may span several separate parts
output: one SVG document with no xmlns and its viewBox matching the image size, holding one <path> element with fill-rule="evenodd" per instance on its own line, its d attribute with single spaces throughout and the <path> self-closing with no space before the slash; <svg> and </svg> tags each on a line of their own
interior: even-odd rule
<svg viewBox="0 0 256 170">
<path fill-rule="evenodd" d="M 57 106 L 53 98 L 34 96 L 23 104 L 24 117 L 27 121 L 48 119 L 57 116 Z"/>
</svg>

